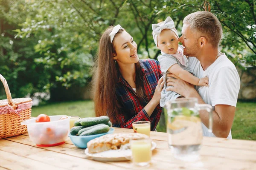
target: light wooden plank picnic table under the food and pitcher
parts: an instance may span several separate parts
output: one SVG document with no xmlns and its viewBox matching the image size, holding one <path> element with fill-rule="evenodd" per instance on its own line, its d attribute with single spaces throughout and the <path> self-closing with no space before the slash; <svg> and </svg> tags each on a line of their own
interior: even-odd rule
<svg viewBox="0 0 256 170">
<path fill-rule="evenodd" d="M 114 133 L 132 133 L 131 129 L 115 128 Z M 167 133 L 151 132 L 157 143 L 150 167 L 135 167 L 131 161 L 99 162 L 86 159 L 84 149 L 70 139 L 55 147 L 37 147 L 28 133 L 0 139 L 0 170 L 122 170 L 122 169 L 256 169 L 256 141 L 227 140 L 204 137 L 201 159 L 183 162 L 173 158 L 167 144 Z"/>
</svg>

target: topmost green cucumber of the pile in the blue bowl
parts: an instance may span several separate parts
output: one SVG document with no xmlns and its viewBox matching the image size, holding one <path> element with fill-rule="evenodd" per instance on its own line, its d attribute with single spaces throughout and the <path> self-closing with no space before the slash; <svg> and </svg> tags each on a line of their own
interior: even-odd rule
<svg viewBox="0 0 256 170">
<path fill-rule="evenodd" d="M 100 116 L 100 117 L 88 117 L 80 119 L 80 124 L 85 127 L 98 125 L 100 123 L 108 124 L 109 117 L 108 116 Z"/>
</svg>

